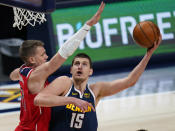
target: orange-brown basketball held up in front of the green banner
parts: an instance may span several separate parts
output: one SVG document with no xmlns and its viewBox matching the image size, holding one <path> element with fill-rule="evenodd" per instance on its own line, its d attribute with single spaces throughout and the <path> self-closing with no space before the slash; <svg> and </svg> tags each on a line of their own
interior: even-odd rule
<svg viewBox="0 0 175 131">
<path fill-rule="evenodd" d="M 138 23 L 133 30 L 133 39 L 144 48 L 151 48 L 154 42 L 158 41 L 160 30 L 156 24 L 151 21 Z"/>
</svg>

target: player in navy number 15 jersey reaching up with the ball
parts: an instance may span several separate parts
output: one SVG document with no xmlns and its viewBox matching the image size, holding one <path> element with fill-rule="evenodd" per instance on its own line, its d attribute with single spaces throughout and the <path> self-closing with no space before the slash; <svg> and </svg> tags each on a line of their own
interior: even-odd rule
<svg viewBox="0 0 175 131">
<path fill-rule="evenodd" d="M 161 40 L 160 36 L 159 41 L 147 50 L 143 59 L 127 77 L 111 82 L 88 85 L 88 78 L 93 73 L 91 59 L 84 53 L 76 55 L 70 71 L 72 78 L 58 77 L 35 97 L 36 105 L 53 107 L 50 131 L 97 131 L 96 112 L 91 107 L 80 109 L 74 104 L 77 101 L 75 98 L 87 101 L 95 108 L 101 98 L 133 86 Z"/>
</svg>

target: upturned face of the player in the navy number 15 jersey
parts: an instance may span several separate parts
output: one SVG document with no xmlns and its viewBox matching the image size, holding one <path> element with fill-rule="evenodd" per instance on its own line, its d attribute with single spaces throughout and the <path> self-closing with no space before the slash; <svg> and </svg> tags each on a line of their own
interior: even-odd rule
<svg viewBox="0 0 175 131">
<path fill-rule="evenodd" d="M 87 58 L 75 58 L 71 67 L 71 74 L 74 80 L 87 80 L 92 73 L 93 70 L 90 68 Z"/>
</svg>

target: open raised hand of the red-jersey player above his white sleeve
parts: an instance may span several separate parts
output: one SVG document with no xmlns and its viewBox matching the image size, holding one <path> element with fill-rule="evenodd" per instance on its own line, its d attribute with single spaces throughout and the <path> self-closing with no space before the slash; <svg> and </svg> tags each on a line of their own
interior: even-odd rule
<svg viewBox="0 0 175 131">
<path fill-rule="evenodd" d="M 90 26 L 93 26 L 94 24 L 96 24 L 100 19 L 100 15 L 103 12 L 104 7 L 105 7 L 105 3 L 102 1 L 98 11 L 96 12 L 96 14 L 90 20 L 88 20 L 86 22 L 86 24 L 90 25 Z"/>
</svg>

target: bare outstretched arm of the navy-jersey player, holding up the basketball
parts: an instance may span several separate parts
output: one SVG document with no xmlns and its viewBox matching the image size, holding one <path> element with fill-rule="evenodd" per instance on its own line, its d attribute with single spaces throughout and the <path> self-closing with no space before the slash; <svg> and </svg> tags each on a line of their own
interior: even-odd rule
<svg viewBox="0 0 175 131">
<path fill-rule="evenodd" d="M 144 72 L 153 52 L 158 48 L 162 41 L 162 37 L 159 37 L 159 41 L 154 43 L 154 47 L 149 49 L 140 63 L 129 73 L 129 75 L 123 79 L 114 80 L 111 82 L 99 82 L 96 85 L 99 87 L 98 96 L 110 96 L 134 86 L 135 83 L 140 78 L 141 74 Z"/>
</svg>

